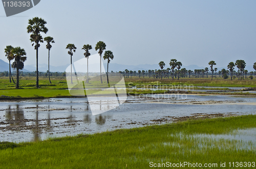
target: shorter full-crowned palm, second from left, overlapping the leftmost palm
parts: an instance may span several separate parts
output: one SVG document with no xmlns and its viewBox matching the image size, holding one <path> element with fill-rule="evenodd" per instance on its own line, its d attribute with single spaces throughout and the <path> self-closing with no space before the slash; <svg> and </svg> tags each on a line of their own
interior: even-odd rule
<svg viewBox="0 0 256 169">
<path fill-rule="evenodd" d="M 12 68 L 16 69 L 16 89 L 19 88 L 19 70 L 24 68 L 24 62 L 27 60 L 26 51 L 20 47 L 15 47 L 11 50 L 14 62 L 12 63 Z"/>
</svg>

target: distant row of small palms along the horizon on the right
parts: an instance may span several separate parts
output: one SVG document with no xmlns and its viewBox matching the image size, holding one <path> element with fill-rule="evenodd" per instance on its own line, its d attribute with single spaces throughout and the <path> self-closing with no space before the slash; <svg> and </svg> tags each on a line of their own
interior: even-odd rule
<svg viewBox="0 0 256 169">
<path fill-rule="evenodd" d="M 181 77 L 185 77 L 187 76 L 187 74 L 189 75 L 189 78 L 190 78 L 190 75 L 192 73 L 195 74 L 195 77 L 197 77 L 197 74 L 198 74 L 198 77 L 200 76 L 201 74 L 201 77 L 204 77 L 205 73 L 206 73 L 206 77 L 208 78 L 208 72 L 210 71 L 211 72 L 211 80 L 212 78 L 214 77 L 214 72 L 215 72 L 215 77 L 217 77 L 217 68 L 214 68 L 214 65 L 216 65 L 215 61 L 210 61 L 208 63 L 208 65 L 210 66 L 210 70 L 206 67 L 205 69 L 195 69 L 194 71 L 192 70 L 186 70 L 186 68 L 182 68 L 181 69 L 181 66 L 182 66 L 182 63 L 181 62 L 177 62 L 176 59 L 172 59 L 170 60 L 170 68 L 167 68 L 166 70 L 163 70 L 164 66 L 165 66 L 165 63 L 163 61 L 159 62 L 159 66 L 160 66 L 160 69 L 159 70 L 148 70 L 148 71 L 138 71 L 138 75 L 140 77 L 140 74 L 142 73 L 143 75 L 143 78 L 144 78 L 144 74 L 147 73 L 149 74 L 149 76 L 151 77 L 151 73 L 155 75 L 153 75 L 153 77 L 155 78 L 163 78 L 163 77 L 166 77 L 166 78 L 169 78 L 169 74 L 172 76 L 172 79 L 174 79 L 174 76 L 178 76 L 178 79 L 181 75 Z M 234 67 L 237 66 L 238 68 L 238 72 L 234 71 Z M 218 73 L 225 78 L 225 74 L 229 74 L 230 73 L 230 76 L 231 76 L 231 80 L 232 80 L 232 76 L 234 73 L 236 73 L 236 75 L 238 75 L 239 79 L 241 80 L 242 77 L 244 77 L 244 74 L 246 75 L 248 73 L 247 70 L 245 70 L 245 66 L 246 66 L 246 63 L 244 60 L 237 60 L 236 63 L 233 63 L 233 62 L 230 62 L 228 65 L 227 65 L 227 68 L 228 70 L 225 70 L 225 69 L 222 69 L 221 71 L 219 71 Z M 253 69 L 256 70 L 256 63 L 253 64 Z M 125 69 L 124 72 L 121 72 L 119 71 L 119 73 L 123 73 L 125 74 L 125 76 L 129 77 L 129 74 L 132 76 L 132 75 L 136 75 L 136 71 L 132 71 L 132 70 L 127 70 Z M 251 75 L 255 72 L 249 72 Z M 228 76 L 227 76 L 228 77 Z"/>
</svg>

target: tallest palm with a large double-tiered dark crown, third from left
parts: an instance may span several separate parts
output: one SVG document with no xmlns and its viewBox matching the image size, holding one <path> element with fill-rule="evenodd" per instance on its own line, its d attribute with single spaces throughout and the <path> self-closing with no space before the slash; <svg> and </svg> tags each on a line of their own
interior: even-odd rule
<svg viewBox="0 0 256 169">
<path fill-rule="evenodd" d="M 35 45 L 36 50 L 36 88 L 39 88 L 39 80 L 38 80 L 38 47 L 40 47 L 39 42 L 43 43 L 42 36 L 40 35 L 41 32 L 47 33 L 48 29 L 45 26 L 47 23 L 44 19 L 34 17 L 29 19 L 29 25 L 27 27 L 27 33 L 31 33 L 30 41 L 32 42 L 32 46 Z"/>
</svg>

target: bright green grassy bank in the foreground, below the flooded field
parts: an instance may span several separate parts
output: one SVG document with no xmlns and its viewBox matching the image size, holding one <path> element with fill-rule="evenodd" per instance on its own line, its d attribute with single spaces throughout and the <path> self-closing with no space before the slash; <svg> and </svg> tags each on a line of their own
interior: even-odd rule
<svg viewBox="0 0 256 169">
<path fill-rule="evenodd" d="M 249 115 L 120 129 L 36 143 L 1 143 L 0 167 L 150 168 L 151 161 L 252 162 L 256 159 L 255 148 L 237 150 L 242 142 L 193 135 L 227 134 L 236 129 L 255 128 L 255 121 L 256 116 Z"/>
</svg>

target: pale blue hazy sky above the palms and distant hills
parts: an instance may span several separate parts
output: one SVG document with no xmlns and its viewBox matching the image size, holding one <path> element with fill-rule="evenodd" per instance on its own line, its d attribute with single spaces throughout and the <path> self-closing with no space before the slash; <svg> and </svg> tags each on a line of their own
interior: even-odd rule
<svg viewBox="0 0 256 169">
<path fill-rule="evenodd" d="M 1 6 L 1 5 L 0 5 Z M 27 51 L 25 65 L 36 63 L 34 47 L 27 34 L 28 19 L 47 21 L 47 35 L 55 44 L 50 65 L 70 63 L 65 49 L 74 43 L 73 60 L 82 59 L 83 44 L 98 41 L 112 50 L 112 63 L 124 65 L 158 64 L 177 59 L 183 65 L 206 67 L 211 60 L 216 67 L 238 59 L 247 65 L 256 62 L 256 1 L 66 1 L 41 0 L 34 8 L 6 17 L 0 7 L 0 59 L 7 61 L 6 45 Z M 48 51 L 42 43 L 39 63 L 48 63 Z"/>
</svg>

